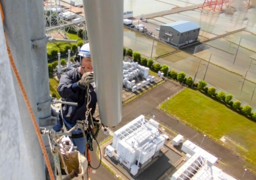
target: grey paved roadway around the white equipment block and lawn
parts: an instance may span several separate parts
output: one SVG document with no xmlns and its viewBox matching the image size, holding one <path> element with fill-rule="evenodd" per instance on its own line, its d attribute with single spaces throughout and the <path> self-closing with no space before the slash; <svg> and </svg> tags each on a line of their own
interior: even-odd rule
<svg viewBox="0 0 256 180">
<path fill-rule="evenodd" d="M 117 130 L 124 124 L 130 122 L 134 118 L 138 117 L 141 114 L 149 114 L 155 115 L 157 119 L 160 120 L 161 123 L 164 123 L 176 130 L 180 134 L 184 135 L 187 139 L 200 144 L 203 139 L 203 135 L 194 129 L 184 125 L 173 117 L 168 116 L 161 110 L 157 108 L 157 106 L 168 97 L 175 94 L 177 91 L 184 88 L 173 81 L 166 81 L 165 83 L 159 85 L 158 87 L 150 90 L 139 98 L 127 103 L 122 108 L 122 121 L 114 128 L 111 128 L 112 131 Z M 107 136 L 100 132 L 97 140 L 101 141 Z M 96 143 L 93 144 L 94 149 L 96 149 Z M 211 139 L 205 138 L 202 147 L 212 154 L 215 154 L 217 157 L 221 158 L 221 163 L 217 163 L 216 166 L 221 168 L 224 172 L 239 178 L 239 179 L 255 179 L 256 176 L 251 174 L 250 172 L 246 172 L 244 175 L 243 164 L 245 161 L 240 157 L 236 156 L 232 153 L 231 150 L 225 148 L 224 146 L 212 141 Z M 91 153 L 92 156 L 92 165 L 98 163 L 96 159 L 96 150 Z M 223 163 L 224 162 L 224 163 Z M 99 169 L 94 170 L 94 173 L 91 173 L 92 179 L 113 179 L 113 175 L 110 174 L 103 166 Z M 121 173 L 120 173 L 121 174 Z"/>
</svg>

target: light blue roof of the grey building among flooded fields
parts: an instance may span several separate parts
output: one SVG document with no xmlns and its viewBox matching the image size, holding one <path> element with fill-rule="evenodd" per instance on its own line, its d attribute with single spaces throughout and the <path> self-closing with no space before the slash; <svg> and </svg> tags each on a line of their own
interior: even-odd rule
<svg viewBox="0 0 256 180">
<path fill-rule="evenodd" d="M 172 27 L 175 30 L 179 31 L 180 33 L 200 28 L 199 25 L 197 25 L 193 22 L 190 22 L 190 21 L 185 21 L 185 20 L 179 20 L 176 22 L 167 23 L 167 24 L 163 24 L 161 26 Z"/>
</svg>

